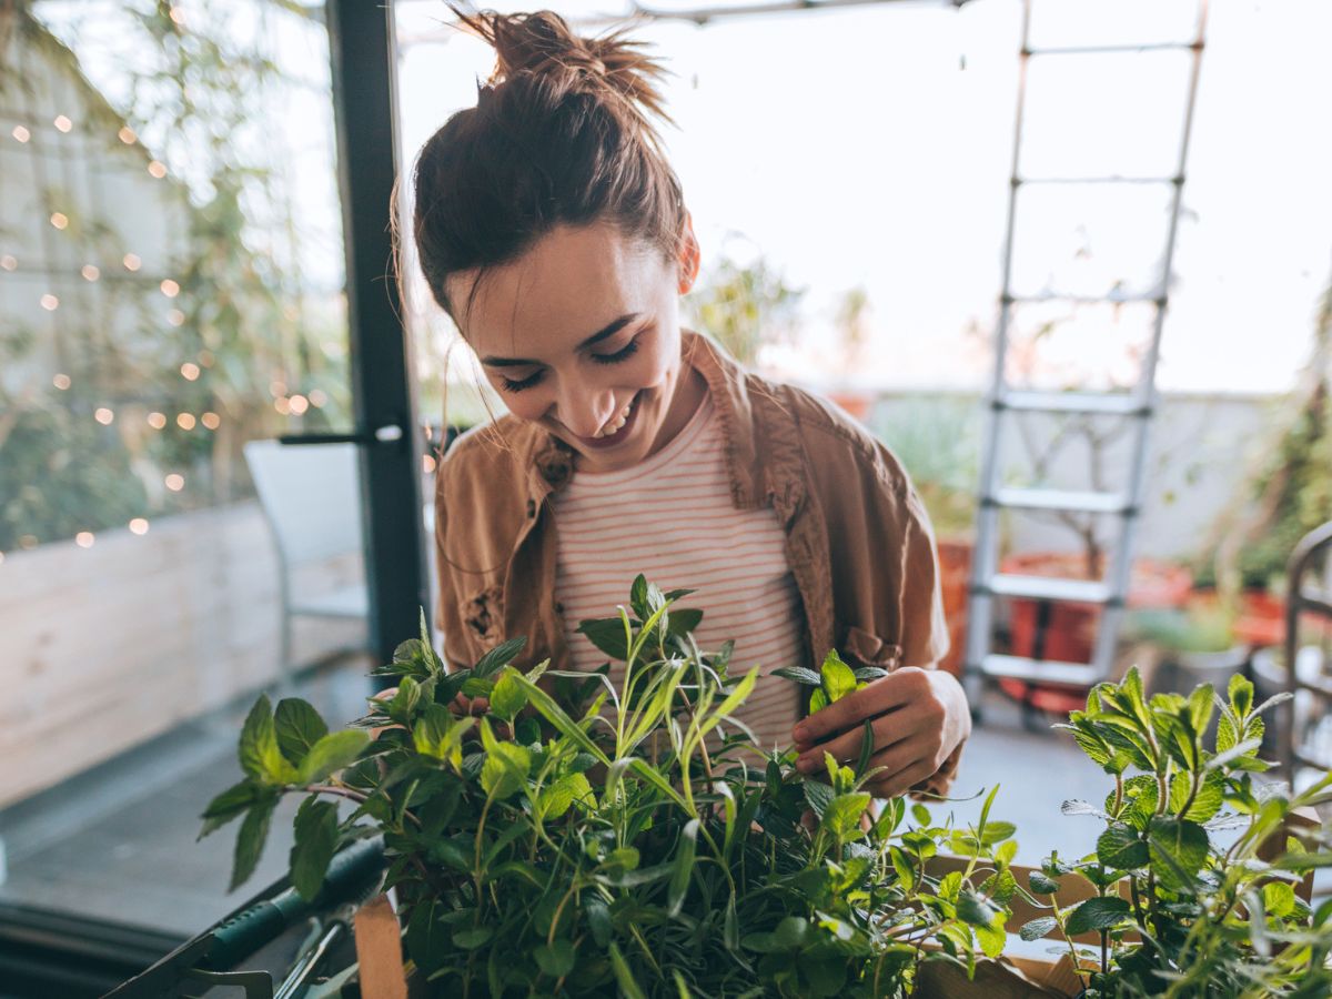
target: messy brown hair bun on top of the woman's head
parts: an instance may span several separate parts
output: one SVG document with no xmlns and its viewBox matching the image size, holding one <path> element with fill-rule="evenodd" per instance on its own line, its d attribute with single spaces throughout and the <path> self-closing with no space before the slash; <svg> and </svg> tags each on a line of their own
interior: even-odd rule
<svg viewBox="0 0 1332 999">
<path fill-rule="evenodd" d="M 488 87 L 522 75 L 569 75 L 578 77 L 581 89 L 602 88 L 627 99 L 649 132 L 653 129 L 643 112 L 674 124 L 658 89 L 658 81 L 669 71 L 642 52 L 643 43 L 625 37 L 627 28 L 585 39 L 574 35 L 567 21 L 553 11 L 480 11 L 474 15 L 456 7 L 453 11 L 496 51 L 496 68 Z"/>
</svg>

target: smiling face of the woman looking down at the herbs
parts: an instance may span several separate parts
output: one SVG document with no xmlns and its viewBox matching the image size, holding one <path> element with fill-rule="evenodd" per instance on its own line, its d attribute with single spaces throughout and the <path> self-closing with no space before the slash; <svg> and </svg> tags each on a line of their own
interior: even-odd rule
<svg viewBox="0 0 1332 999">
<path fill-rule="evenodd" d="M 462 336 L 509 412 L 569 444 L 581 468 L 630 468 L 678 424 L 679 296 L 698 270 L 691 225 L 683 242 L 667 262 L 611 225 L 559 226 L 488 270 L 470 306 L 476 273 L 448 280 Z"/>
</svg>

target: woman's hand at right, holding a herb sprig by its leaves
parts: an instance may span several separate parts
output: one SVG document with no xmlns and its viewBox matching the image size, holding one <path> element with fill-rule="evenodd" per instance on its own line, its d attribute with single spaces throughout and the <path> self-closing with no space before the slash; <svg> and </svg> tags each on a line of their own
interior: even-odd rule
<svg viewBox="0 0 1332 999">
<path fill-rule="evenodd" d="M 886 767 L 864 790 L 894 798 L 932 775 L 971 734 L 971 711 L 951 673 L 906 666 L 847 694 L 795 726 L 795 766 L 802 774 L 825 769 L 823 754 L 839 763 L 860 758 L 864 719 L 874 726 L 870 767 Z"/>
</svg>

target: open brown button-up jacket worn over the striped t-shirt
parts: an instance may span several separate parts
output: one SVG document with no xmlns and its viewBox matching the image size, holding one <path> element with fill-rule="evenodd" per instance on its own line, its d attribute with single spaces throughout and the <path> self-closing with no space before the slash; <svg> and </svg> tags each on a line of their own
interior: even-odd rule
<svg viewBox="0 0 1332 999">
<path fill-rule="evenodd" d="M 836 647 L 852 665 L 935 666 L 948 651 L 939 566 L 906 469 L 835 406 L 746 372 L 707 337 L 686 330 L 683 356 L 717 406 L 735 507 L 771 505 L 786 529 L 806 663 Z M 453 663 L 526 635 L 523 662 L 567 669 L 549 500 L 573 472 L 562 441 L 510 416 L 450 448 L 436 486 L 436 623 Z M 960 749 L 916 790 L 944 794 Z"/>
</svg>

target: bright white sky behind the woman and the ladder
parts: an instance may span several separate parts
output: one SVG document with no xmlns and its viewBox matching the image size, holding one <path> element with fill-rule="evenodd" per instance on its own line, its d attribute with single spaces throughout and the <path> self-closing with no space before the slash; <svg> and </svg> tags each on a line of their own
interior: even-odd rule
<svg viewBox="0 0 1332 999">
<path fill-rule="evenodd" d="M 1032 41 L 1187 40 L 1195 9 L 1193 0 L 1040 0 Z M 438 27 L 442 12 L 433 1 L 398 5 L 409 155 L 474 103 L 476 80 L 490 69 L 485 47 Z M 667 103 L 681 128 L 666 139 L 705 254 L 758 250 L 809 288 L 809 334 L 799 349 L 770 353 L 775 366 L 825 382 L 987 382 L 1020 24 L 1018 0 L 972 0 L 960 11 L 891 3 L 638 32 L 677 73 Z M 1281 392 L 1305 358 L 1332 274 L 1332 132 L 1321 124 L 1329 40 L 1325 0 L 1211 4 L 1158 373 L 1164 389 Z M 1188 65 L 1187 52 L 1034 59 L 1023 169 L 1168 176 Z M 1018 290 L 1150 285 L 1164 249 L 1163 188 L 1027 190 Z M 1079 249 L 1090 256 L 1075 258 Z M 872 334 L 848 373 L 831 349 L 832 316 L 858 284 L 870 293 Z M 1151 310 L 1132 313 L 1118 326 L 1107 313 L 1067 328 L 1038 370 L 1050 384 L 1108 369 L 1131 378 L 1126 348 L 1150 328 Z"/>
</svg>

